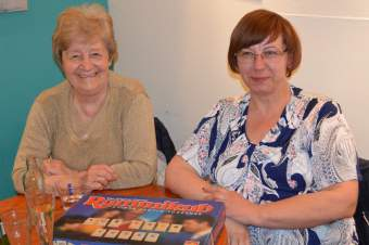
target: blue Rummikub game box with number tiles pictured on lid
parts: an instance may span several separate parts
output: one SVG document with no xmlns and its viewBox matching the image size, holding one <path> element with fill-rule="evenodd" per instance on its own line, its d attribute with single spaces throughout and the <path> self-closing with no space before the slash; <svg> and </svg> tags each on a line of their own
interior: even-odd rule
<svg viewBox="0 0 369 245">
<path fill-rule="evenodd" d="M 213 245 L 224 204 L 142 196 L 85 195 L 54 223 L 56 245 Z"/>
</svg>

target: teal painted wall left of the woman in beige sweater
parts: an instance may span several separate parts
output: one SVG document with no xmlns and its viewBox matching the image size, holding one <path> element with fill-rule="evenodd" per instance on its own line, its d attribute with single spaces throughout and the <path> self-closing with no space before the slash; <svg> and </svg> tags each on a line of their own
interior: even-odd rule
<svg viewBox="0 0 369 245">
<path fill-rule="evenodd" d="M 28 109 L 43 89 L 61 81 L 51 36 L 68 5 L 106 0 L 28 0 L 28 11 L 0 14 L 0 199 L 14 195 L 11 171 Z"/>
</svg>

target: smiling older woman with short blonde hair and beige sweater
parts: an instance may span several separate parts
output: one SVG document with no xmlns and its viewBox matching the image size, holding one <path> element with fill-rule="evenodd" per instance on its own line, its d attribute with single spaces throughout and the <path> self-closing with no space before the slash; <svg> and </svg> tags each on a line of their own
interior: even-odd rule
<svg viewBox="0 0 369 245">
<path fill-rule="evenodd" d="M 16 191 L 24 191 L 28 156 L 47 158 L 49 190 L 76 176 L 88 190 L 151 183 L 156 171 L 152 105 L 139 81 L 109 69 L 117 59 L 112 17 L 99 4 L 65 10 L 52 49 L 66 79 L 31 106 L 13 168 Z"/>
</svg>

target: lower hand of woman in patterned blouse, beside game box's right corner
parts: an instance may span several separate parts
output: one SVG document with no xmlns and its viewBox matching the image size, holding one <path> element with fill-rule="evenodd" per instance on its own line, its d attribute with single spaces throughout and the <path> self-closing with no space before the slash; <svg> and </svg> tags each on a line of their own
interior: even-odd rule
<svg viewBox="0 0 369 245">
<path fill-rule="evenodd" d="M 226 218 L 228 245 L 250 245 L 249 230 L 242 223 Z"/>
</svg>

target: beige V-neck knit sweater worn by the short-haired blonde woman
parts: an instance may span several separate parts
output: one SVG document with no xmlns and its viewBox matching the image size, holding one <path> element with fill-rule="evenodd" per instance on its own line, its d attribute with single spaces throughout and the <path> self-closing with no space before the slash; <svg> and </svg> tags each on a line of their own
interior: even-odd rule
<svg viewBox="0 0 369 245">
<path fill-rule="evenodd" d="M 105 102 L 79 137 L 72 124 L 71 86 L 65 80 L 35 101 L 13 167 L 13 182 L 23 192 L 25 159 L 36 156 L 63 160 L 74 170 L 93 164 L 112 166 L 118 180 L 110 189 L 149 184 L 156 172 L 152 105 L 139 81 L 110 74 Z"/>
</svg>

